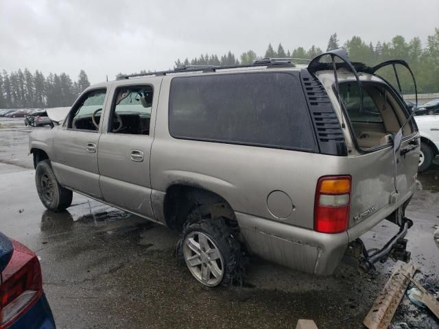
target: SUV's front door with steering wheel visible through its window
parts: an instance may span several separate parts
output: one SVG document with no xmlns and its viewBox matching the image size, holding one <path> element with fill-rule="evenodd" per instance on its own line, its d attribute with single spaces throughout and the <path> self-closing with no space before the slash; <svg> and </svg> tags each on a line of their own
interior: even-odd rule
<svg viewBox="0 0 439 329">
<path fill-rule="evenodd" d="M 99 121 L 106 89 L 91 90 L 75 102 L 60 129 L 54 130 L 51 165 L 63 186 L 102 199 L 97 168 Z"/>
</svg>

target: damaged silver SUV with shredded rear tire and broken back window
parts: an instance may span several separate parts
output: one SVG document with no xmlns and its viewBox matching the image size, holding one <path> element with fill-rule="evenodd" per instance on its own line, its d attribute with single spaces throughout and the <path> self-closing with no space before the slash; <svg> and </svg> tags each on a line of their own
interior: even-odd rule
<svg viewBox="0 0 439 329">
<path fill-rule="evenodd" d="M 64 121 L 30 136 L 41 202 L 64 210 L 75 191 L 178 230 L 178 259 L 210 287 L 241 280 L 246 254 L 318 275 L 346 250 L 364 269 L 407 260 L 418 130 L 377 71 L 410 68 L 353 64 L 341 49 L 293 62 L 87 88 Z M 383 219 L 399 232 L 368 254 L 358 238 Z"/>
</svg>

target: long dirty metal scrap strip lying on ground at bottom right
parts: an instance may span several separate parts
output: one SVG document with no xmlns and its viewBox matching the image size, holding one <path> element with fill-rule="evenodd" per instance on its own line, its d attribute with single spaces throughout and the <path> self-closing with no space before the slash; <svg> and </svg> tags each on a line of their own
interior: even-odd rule
<svg viewBox="0 0 439 329">
<path fill-rule="evenodd" d="M 396 266 L 392 276 L 385 283 L 383 290 L 364 319 L 364 326 L 369 329 L 388 328 L 416 270 L 417 268 L 410 263 Z"/>
</svg>

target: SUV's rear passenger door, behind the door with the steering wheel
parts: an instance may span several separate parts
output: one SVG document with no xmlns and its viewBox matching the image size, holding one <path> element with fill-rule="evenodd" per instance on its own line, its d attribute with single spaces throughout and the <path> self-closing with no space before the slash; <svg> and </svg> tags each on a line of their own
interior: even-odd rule
<svg viewBox="0 0 439 329">
<path fill-rule="evenodd" d="M 158 90 L 159 85 L 156 86 Z M 99 179 L 104 200 L 153 219 L 151 205 L 151 123 L 156 108 L 153 84 L 115 88 L 105 132 L 99 139 Z"/>
</svg>

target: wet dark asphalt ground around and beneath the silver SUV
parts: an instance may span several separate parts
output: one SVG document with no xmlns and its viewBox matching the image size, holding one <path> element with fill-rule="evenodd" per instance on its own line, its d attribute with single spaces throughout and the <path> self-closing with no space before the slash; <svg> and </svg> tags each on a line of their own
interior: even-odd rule
<svg viewBox="0 0 439 329">
<path fill-rule="evenodd" d="M 394 268 L 390 260 L 370 275 L 342 263 L 333 276 L 318 278 L 252 258 L 246 287 L 204 289 L 176 263 L 178 235 L 166 228 L 78 194 L 67 212 L 45 210 L 27 156 L 32 129 L 49 128 L 0 118 L 0 231 L 40 257 L 58 328 L 295 328 L 299 318 L 314 319 L 318 328 L 364 328 Z M 420 267 L 415 278 L 432 292 L 439 291 L 437 162 L 418 175 L 419 191 L 407 208 L 414 220 L 407 249 Z M 384 221 L 364 240 L 383 245 L 396 231 Z M 407 297 L 393 324 L 439 328 Z"/>
</svg>

